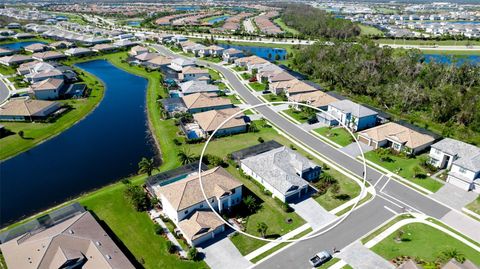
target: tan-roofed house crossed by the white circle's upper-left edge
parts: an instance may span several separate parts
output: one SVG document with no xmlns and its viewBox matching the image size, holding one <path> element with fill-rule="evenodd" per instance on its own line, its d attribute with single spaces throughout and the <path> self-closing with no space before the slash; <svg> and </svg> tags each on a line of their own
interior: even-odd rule
<svg viewBox="0 0 480 269">
<path fill-rule="evenodd" d="M 210 110 L 193 114 L 193 119 L 200 126 L 203 132 L 203 137 L 208 137 L 213 133 L 213 131 L 220 127 L 220 124 L 240 111 L 241 109 L 236 107 L 221 110 Z M 244 133 L 246 131 L 247 123 L 245 122 L 245 115 L 243 113 L 239 113 L 232 119 L 225 122 L 225 124 L 223 124 L 222 127 L 217 130 L 215 136 L 232 135 Z"/>
</svg>

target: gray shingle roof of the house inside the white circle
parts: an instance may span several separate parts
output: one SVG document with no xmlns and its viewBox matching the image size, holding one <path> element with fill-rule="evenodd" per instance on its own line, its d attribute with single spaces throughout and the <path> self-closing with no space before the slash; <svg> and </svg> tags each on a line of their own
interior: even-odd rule
<svg viewBox="0 0 480 269">
<path fill-rule="evenodd" d="M 251 156 L 242 163 L 282 194 L 307 185 L 298 174 L 317 165 L 286 147 Z M 297 174 L 298 173 L 298 174 Z"/>
</svg>

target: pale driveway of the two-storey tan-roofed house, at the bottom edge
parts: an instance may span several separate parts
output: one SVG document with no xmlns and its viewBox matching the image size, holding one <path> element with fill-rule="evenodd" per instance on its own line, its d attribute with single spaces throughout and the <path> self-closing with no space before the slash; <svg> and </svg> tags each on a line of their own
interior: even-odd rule
<svg viewBox="0 0 480 269">
<path fill-rule="evenodd" d="M 244 269 L 252 265 L 240 254 L 227 236 L 215 242 L 209 242 L 209 245 L 204 246 L 200 251 L 205 254 L 205 262 L 212 269 Z"/>
</svg>

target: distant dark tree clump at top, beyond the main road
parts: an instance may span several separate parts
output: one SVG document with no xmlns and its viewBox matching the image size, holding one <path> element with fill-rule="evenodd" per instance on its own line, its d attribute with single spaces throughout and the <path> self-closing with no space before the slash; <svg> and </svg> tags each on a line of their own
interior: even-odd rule
<svg viewBox="0 0 480 269">
<path fill-rule="evenodd" d="M 285 25 L 304 36 L 349 39 L 360 35 L 360 27 L 351 21 L 308 5 L 286 4 L 281 18 Z"/>
</svg>

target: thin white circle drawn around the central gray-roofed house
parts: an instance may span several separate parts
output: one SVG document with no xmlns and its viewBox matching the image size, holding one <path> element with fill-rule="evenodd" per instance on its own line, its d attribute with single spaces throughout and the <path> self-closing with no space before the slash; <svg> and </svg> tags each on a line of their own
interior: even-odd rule
<svg viewBox="0 0 480 269">
<path fill-rule="evenodd" d="M 263 238 L 263 237 L 258 237 L 258 236 L 255 236 L 255 235 L 252 235 L 252 234 L 249 234 L 247 232 L 244 232 L 242 230 L 239 230 L 237 229 L 235 226 L 233 226 L 232 224 L 228 223 L 228 221 L 226 221 L 225 219 L 223 219 L 222 216 L 220 216 L 220 214 L 213 208 L 212 204 L 208 201 L 208 197 L 207 197 L 207 194 L 205 193 L 205 189 L 203 188 L 203 182 L 202 182 L 202 160 L 203 160 L 203 155 L 205 154 L 205 150 L 207 149 L 208 147 L 208 143 L 210 143 L 210 140 L 215 136 L 215 133 L 220 129 L 222 128 L 222 126 L 227 123 L 229 120 L 233 119 L 234 117 L 236 117 L 237 115 L 249 110 L 249 109 L 254 109 L 254 108 L 257 108 L 257 107 L 262 107 L 262 106 L 268 106 L 268 105 L 282 105 L 282 104 L 287 104 L 287 105 L 297 105 L 297 106 L 305 106 L 305 107 L 309 107 L 309 108 L 312 108 L 316 111 L 319 111 L 321 113 L 325 113 L 327 114 L 328 116 L 332 117 L 333 119 L 335 119 L 336 121 L 338 121 L 338 123 L 344 127 L 349 133 L 350 135 L 353 137 L 353 139 L 355 140 L 355 143 L 357 144 L 358 146 L 358 149 L 360 150 L 360 153 L 362 155 L 362 160 L 363 160 L 363 184 L 360 186 L 361 187 L 361 191 L 360 191 L 360 194 L 353 198 L 353 199 L 357 199 L 357 201 L 353 204 L 353 207 L 345 214 L 342 215 L 342 217 L 340 217 L 340 219 L 335 219 L 336 223 L 334 223 L 332 226 L 328 227 L 327 229 L 323 229 L 325 228 L 326 226 L 330 225 L 331 223 L 328 223 L 326 224 L 324 227 L 318 229 L 318 230 L 313 230 L 313 232 L 311 232 L 310 235 L 308 236 L 304 236 L 304 237 L 301 237 L 301 238 L 298 238 L 298 239 L 284 239 L 283 236 L 280 236 L 276 239 L 268 239 L 268 238 Z M 286 119 L 288 120 L 288 119 Z M 298 127 L 300 128 L 300 127 Z M 288 133 L 287 133 L 288 135 Z M 237 113 L 233 114 L 232 116 L 230 116 L 229 118 L 227 118 L 226 120 L 224 120 L 214 131 L 213 133 L 208 137 L 207 139 L 207 142 L 205 143 L 205 145 L 203 146 L 203 149 L 202 149 L 202 153 L 200 154 L 200 159 L 199 159 L 199 165 L 198 165 L 198 179 L 200 181 L 200 189 L 202 190 L 202 194 L 203 194 L 203 197 L 205 198 L 205 201 L 207 202 L 208 206 L 210 207 L 210 209 L 212 210 L 212 212 L 219 218 L 221 219 L 226 225 L 228 225 L 230 228 L 232 228 L 233 230 L 245 235 L 245 236 L 248 236 L 250 238 L 253 238 L 253 239 L 257 239 L 257 240 L 262 240 L 262 241 L 266 241 L 266 242 L 275 242 L 275 243 L 293 243 L 293 242 L 300 242 L 300 241 L 304 241 L 304 240 L 308 240 L 308 239 L 312 239 L 312 238 L 315 238 L 317 236 L 320 236 L 322 234 L 325 234 L 327 232 L 329 232 L 330 230 L 332 230 L 333 228 L 335 228 L 337 225 L 339 225 L 340 223 L 342 223 L 352 212 L 353 210 L 355 210 L 355 208 L 357 207 L 358 203 L 360 202 L 360 200 L 362 200 L 363 198 L 363 195 L 364 195 L 364 192 L 366 191 L 366 187 L 365 187 L 365 184 L 367 182 L 367 163 L 365 162 L 365 155 L 363 153 L 363 149 L 362 147 L 360 146 L 357 138 L 355 137 L 355 135 L 353 135 L 353 132 L 350 131 L 350 129 L 342 122 L 340 121 L 337 117 L 333 116 L 331 113 L 327 112 L 327 111 L 323 111 L 317 107 L 314 107 L 314 106 L 311 106 L 311 105 L 308 105 L 308 104 L 304 104 L 304 103 L 298 103 L 298 102 L 291 102 L 291 101 L 277 101 L 277 102 L 264 102 L 264 103 L 261 103 L 261 104 L 256 104 L 256 105 L 250 105 L 249 107 L 247 108 L 244 108 L 240 111 L 238 111 Z M 255 180 L 255 179 L 253 179 Z M 333 223 L 333 222 L 332 222 Z"/>
</svg>

